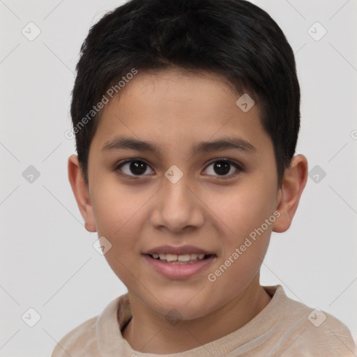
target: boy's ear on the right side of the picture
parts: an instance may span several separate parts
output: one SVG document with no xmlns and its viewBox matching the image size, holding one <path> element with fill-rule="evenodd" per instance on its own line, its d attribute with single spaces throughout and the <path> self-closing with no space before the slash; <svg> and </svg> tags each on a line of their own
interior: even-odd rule
<svg viewBox="0 0 357 357">
<path fill-rule="evenodd" d="M 276 208 L 280 212 L 280 216 L 273 224 L 273 231 L 282 233 L 289 229 L 306 181 L 307 159 L 304 155 L 296 155 L 291 159 L 290 167 L 285 169 L 284 172 Z"/>
</svg>

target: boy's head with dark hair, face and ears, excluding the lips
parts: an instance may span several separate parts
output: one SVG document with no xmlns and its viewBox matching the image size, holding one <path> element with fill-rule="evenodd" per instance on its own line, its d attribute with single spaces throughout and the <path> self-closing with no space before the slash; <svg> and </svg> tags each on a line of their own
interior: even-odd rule
<svg viewBox="0 0 357 357">
<path fill-rule="evenodd" d="M 259 280 L 271 232 L 289 228 L 306 183 L 299 105 L 291 47 L 248 1 L 132 0 L 92 26 L 68 173 L 86 229 L 110 243 L 105 258 L 132 296 L 195 319 Z M 147 256 L 162 245 L 211 260 L 167 277 Z"/>
</svg>

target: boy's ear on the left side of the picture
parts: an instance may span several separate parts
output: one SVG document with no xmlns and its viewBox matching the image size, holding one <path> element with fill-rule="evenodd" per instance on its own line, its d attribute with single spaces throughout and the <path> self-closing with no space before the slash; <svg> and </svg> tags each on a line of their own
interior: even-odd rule
<svg viewBox="0 0 357 357">
<path fill-rule="evenodd" d="M 70 155 L 68 158 L 68 180 L 75 195 L 79 211 L 84 219 L 84 227 L 87 231 L 96 231 L 96 222 L 93 215 L 89 185 L 84 181 L 82 170 L 78 162 L 78 155 Z"/>
</svg>

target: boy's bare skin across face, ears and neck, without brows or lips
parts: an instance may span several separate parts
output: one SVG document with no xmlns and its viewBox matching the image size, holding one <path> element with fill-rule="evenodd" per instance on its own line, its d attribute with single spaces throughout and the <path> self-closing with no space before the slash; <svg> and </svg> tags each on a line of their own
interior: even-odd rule
<svg viewBox="0 0 357 357">
<path fill-rule="evenodd" d="M 271 231 L 291 225 L 307 181 L 307 160 L 294 156 L 278 187 L 273 142 L 261 126 L 259 106 L 243 112 L 236 105 L 239 96 L 218 75 L 139 72 L 120 94 L 102 109 L 89 151 L 89 185 L 77 155 L 68 159 L 68 178 L 86 229 L 112 243 L 105 259 L 128 288 L 132 320 L 123 337 L 136 351 L 174 354 L 236 331 L 271 301 L 259 284 L 259 269 Z M 119 136 L 155 142 L 162 153 L 102 151 Z M 197 142 L 226 136 L 244 139 L 255 151 L 192 155 Z M 222 174 L 211 162 L 220 158 L 243 169 L 231 165 Z M 129 164 L 115 171 L 125 159 L 144 160 L 144 175 L 130 171 Z M 183 172 L 177 183 L 164 175 L 172 165 Z M 229 174 L 236 176 L 226 179 Z M 275 211 L 280 217 L 264 234 L 215 282 L 208 281 Z M 187 279 L 160 275 L 142 257 L 158 245 L 185 244 L 217 257 Z M 177 324 L 167 319 L 172 309 L 179 312 Z"/>
</svg>

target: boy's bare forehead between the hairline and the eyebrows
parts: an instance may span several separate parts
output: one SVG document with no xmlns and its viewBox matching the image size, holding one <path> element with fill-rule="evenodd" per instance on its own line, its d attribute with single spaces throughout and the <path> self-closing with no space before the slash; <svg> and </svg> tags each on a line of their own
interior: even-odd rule
<svg viewBox="0 0 357 357">
<path fill-rule="evenodd" d="M 223 135 L 255 149 L 252 142 L 263 144 L 266 135 L 258 106 L 243 112 L 236 105 L 241 95 L 234 93 L 226 79 L 212 73 L 139 72 L 119 94 L 102 109 L 93 138 L 97 149 L 116 146 L 119 137 L 130 137 L 150 142 L 155 151 L 168 146 L 185 149 L 190 142 L 196 143 L 192 150 L 199 151 L 198 142 Z"/>
</svg>

